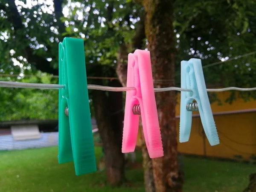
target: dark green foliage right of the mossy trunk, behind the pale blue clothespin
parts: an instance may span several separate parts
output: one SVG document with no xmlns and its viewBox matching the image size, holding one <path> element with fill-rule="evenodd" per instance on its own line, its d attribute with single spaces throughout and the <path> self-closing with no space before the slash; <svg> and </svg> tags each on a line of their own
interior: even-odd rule
<svg viewBox="0 0 256 192">
<path fill-rule="evenodd" d="M 175 1 L 176 65 L 191 57 L 201 58 L 207 84 L 221 87 L 255 87 L 255 12 L 253 0 Z M 228 61 L 230 58 L 235 58 Z M 218 61 L 228 61 L 209 65 Z M 208 66 L 209 65 L 209 66 Z M 179 73 L 180 70 L 177 70 Z M 180 76 L 176 76 L 177 85 Z M 239 93 L 256 99 L 253 92 Z M 236 99 L 231 94 L 228 102 Z"/>
</svg>

